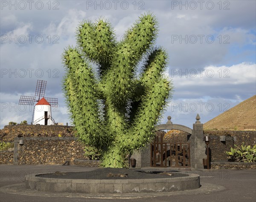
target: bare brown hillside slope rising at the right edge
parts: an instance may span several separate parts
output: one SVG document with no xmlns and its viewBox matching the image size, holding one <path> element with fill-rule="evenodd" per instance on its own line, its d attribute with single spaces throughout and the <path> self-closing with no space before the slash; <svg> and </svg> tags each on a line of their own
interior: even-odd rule
<svg viewBox="0 0 256 202">
<path fill-rule="evenodd" d="M 244 130 L 256 127 L 256 95 L 204 124 L 204 129 Z"/>
</svg>

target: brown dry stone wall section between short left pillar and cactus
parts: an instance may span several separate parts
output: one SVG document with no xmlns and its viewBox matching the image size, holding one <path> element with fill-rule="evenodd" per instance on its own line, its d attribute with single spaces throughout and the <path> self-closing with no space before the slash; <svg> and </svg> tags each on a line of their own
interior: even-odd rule
<svg viewBox="0 0 256 202">
<path fill-rule="evenodd" d="M 17 164 L 63 164 L 84 157 L 84 145 L 76 137 L 22 137 L 16 138 Z M 23 145 L 19 141 L 23 140 Z"/>
</svg>

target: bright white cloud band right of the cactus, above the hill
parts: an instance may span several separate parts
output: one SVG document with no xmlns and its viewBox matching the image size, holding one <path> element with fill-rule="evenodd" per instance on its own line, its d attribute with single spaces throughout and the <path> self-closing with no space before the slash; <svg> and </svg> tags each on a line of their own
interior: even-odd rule
<svg viewBox="0 0 256 202">
<path fill-rule="evenodd" d="M 207 66 L 205 68 L 171 69 L 169 77 L 176 87 L 241 85 L 255 83 L 256 64 L 240 63 L 232 66 Z"/>
</svg>

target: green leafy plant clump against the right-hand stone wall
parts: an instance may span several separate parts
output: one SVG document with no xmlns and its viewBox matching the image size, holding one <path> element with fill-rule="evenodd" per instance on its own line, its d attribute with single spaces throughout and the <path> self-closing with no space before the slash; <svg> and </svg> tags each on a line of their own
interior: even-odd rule
<svg viewBox="0 0 256 202">
<path fill-rule="evenodd" d="M 250 145 L 245 146 L 242 142 L 241 147 L 234 145 L 236 148 L 231 147 L 231 151 L 226 151 L 231 161 L 239 162 L 256 162 L 256 145 L 251 147 Z"/>
</svg>

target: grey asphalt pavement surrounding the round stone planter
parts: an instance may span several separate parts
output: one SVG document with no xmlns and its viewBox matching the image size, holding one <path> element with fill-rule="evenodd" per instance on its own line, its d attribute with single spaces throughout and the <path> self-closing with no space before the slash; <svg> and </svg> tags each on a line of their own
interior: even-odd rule
<svg viewBox="0 0 256 202">
<path fill-rule="evenodd" d="M 199 174 L 201 188 L 172 193 L 147 193 L 122 199 L 100 198 L 102 196 L 88 198 L 85 194 L 27 191 L 22 184 L 26 174 L 94 169 L 97 168 L 72 165 L 0 165 L 0 202 L 256 202 L 256 170 L 184 171 Z"/>
</svg>

